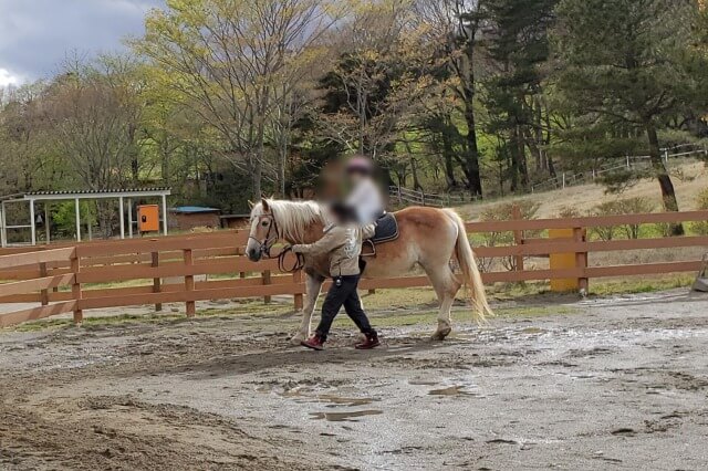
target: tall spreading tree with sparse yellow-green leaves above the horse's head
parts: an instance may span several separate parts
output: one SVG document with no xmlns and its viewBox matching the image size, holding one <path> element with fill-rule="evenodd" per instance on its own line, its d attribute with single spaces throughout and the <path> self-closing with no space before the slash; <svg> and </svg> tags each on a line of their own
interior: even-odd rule
<svg viewBox="0 0 708 471">
<path fill-rule="evenodd" d="M 330 0 L 168 0 L 135 49 L 164 86 L 223 140 L 222 155 L 260 198 L 275 90 L 289 94 L 315 43 L 340 18 Z M 282 94 L 279 96 L 282 98 Z"/>
</svg>

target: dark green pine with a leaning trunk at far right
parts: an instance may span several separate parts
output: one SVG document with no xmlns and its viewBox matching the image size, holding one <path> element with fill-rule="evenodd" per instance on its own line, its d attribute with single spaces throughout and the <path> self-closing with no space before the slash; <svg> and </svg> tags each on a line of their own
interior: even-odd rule
<svg viewBox="0 0 708 471">
<path fill-rule="evenodd" d="M 658 129 L 698 95 L 696 13 L 687 0 L 561 0 L 558 8 L 559 91 L 579 115 L 643 132 L 667 211 L 678 202 Z"/>
</svg>

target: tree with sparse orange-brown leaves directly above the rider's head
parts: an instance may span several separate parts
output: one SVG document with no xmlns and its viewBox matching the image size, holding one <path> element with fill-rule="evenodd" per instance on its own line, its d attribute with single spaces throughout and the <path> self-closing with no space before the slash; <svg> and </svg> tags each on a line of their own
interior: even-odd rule
<svg viewBox="0 0 708 471">
<path fill-rule="evenodd" d="M 389 176 L 408 165 L 415 171 L 407 134 L 439 94 L 431 73 L 440 63 L 427 39 L 412 1 L 363 2 L 343 24 L 333 48 L 339 60 L 320 82 L 320 133 L 378 160 Z"/>
</svg>

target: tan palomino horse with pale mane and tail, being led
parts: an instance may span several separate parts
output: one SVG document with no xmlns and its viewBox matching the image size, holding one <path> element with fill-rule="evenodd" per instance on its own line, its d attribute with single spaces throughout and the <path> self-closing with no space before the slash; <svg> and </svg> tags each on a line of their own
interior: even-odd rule
<svg viewBox="0 0 708 471">
<path fill-rule="evenodd" d="M 438 328 L 434 339 L 444 339 L 451 332 L 450 308 L 455 295 L 465 284 L 479 320 L 491 314 L 482 279 L 467 240 L 462 219 L 451 209 L 407 208 L 395 213 L 398 239 L 376 247 L 376 255 L 368 258 L 364 278 L 392 278 L 410 272 L 420 265 L 430 279 L 440 303 Z M 288 243 L 312 243 L 322 238 L 327 223 L 325 209 L 313 201 L 263 199 L 251 210 L 251 232 L 246 253 L 259 261 L 279 240 Z M 458 276 L 450 266 L 457 260 Z M 306 295 L 302 323 L 292 337 L 294 344 L 310 336 L 310 324 L 320 289 L 329 273 L 326 258 L 305 258 Z"/>
</svg>

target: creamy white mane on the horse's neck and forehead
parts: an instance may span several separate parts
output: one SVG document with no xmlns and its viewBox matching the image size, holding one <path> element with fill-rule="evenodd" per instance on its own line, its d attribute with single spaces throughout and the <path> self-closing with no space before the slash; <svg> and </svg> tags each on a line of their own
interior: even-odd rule
<svg viewBox="0 0 708 471">
<path fill-rule="evenodd" d="M 310 224 L 314 222 L 326 223 L 327 221 L 324 208 L 315 201 L 267 199 L 266 202 L 278 223 L 282 239 L 302 241 Z M 262 203 L 257 205 L 257 207 L 259 206 L 262 213 Z"/>
</svg>

